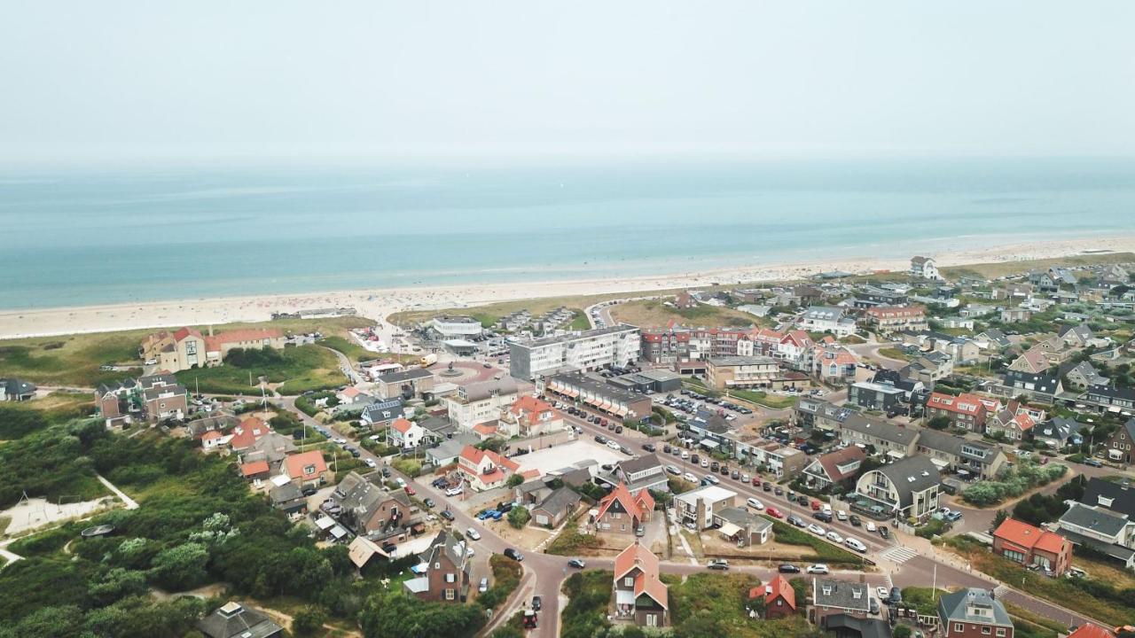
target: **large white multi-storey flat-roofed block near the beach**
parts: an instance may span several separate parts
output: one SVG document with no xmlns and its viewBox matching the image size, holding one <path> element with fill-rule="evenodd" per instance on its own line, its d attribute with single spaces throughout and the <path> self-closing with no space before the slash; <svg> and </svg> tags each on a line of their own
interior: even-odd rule
<svg viewBox="0 0 1135 638">
<path fill-rule="evenodd" d="M 639 329 L 627 325 L 511 343 L 510 372 L 518 379 L 536 379 L 566 370 L 623 367 L 638 361 L 639 349 Z"/>
</svg>

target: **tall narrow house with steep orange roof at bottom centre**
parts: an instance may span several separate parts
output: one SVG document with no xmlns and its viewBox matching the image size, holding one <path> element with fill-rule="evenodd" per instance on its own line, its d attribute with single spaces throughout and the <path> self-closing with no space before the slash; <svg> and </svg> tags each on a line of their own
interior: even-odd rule
<svg viewBox="0 0 1135 638">
<path fill-rule="evenodd" d="M 670 624 L 670 590 L 658 580 L 658 556 L 634 542 L 615 556 L 615 619 L 639 627 Z"/>
</svg>

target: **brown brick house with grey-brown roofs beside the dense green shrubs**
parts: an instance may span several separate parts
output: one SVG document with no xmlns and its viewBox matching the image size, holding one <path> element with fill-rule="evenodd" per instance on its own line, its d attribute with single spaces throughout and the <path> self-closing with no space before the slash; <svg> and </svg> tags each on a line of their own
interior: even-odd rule
<svg viewBox="0 0 1135 638">
<path fill-rule="evenodd" d="M 335 486 L 331 496 L 343 507 L 339 521 L 358 536 L 397 542 L 424 529 L 418 506 L 403 489 L 387 490 L 382 476 L 352 471 Z"/>
</svg>

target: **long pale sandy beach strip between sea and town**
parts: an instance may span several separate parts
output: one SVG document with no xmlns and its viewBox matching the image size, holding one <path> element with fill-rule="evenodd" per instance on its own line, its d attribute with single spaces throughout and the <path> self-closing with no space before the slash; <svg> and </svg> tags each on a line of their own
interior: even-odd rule
<svg viewBox="0 0 1135 638">
<path fill-rule="evenodd" d="M 950 245 L 952 244 L 952 245 Z M 1084 254 L 1085 251 L 1135 252 L 1135 235 L 1054 240 L 965 250 L 962 238 L 926 254 L 939 266 L 1053 259 Z M 0 338 L 98 333 L 183 325 L 264 321 L 272 312 L 295 312 L 302 309 L 351 307 L 360 314 L 382 321 L 389 314 L 406 310 L 468 308 L 520 299 L 614 294 L 697 287 L 709 284 L 775 282 L 808 277 L 817 272 L 842 270 L 866 274 L 877 270 L 906 270 L 907 260 L 871 257 L 833 261 L 760 265 L 706 270 L 699 272 L 659 274 L 651 277 L 625 277 L 590 280 L 522 282 L 386 289 L 339 291 L 291 295 L 250 295 L 241 297 L 155 301 L 145 303 L 89 305 L 28 311 L 0 312 Z"/>
</svg>

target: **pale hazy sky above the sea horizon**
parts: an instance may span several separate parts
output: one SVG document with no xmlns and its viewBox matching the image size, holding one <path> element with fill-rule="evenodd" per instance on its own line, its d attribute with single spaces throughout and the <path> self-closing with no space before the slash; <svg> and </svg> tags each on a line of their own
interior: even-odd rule
<svg viewBox="0 0 1135 638">
<path fill-rule="evenodd" d="M 1135 154 L 1135 2 L 0 3 L 0 161 Z"/>
</svg>

